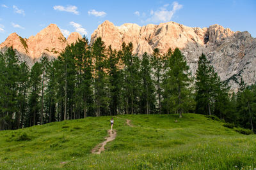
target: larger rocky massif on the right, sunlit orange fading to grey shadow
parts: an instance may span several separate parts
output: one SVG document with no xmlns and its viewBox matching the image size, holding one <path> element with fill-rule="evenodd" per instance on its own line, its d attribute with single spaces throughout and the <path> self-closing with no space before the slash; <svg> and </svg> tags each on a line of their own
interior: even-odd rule
<svg viewBox="0 0 256 170">
<path fill-rule="evenodd" d="M 202 29 L 175 22 L 140 27 L 115 26 L 105 21 L 93 32 L 91 43 L 98 37 L 116 50 L 120 50 L 123 42 L 132 42 L 133 52 L 138 55 L 152 53 L 154 48 L 159 48 L 162 54 L 169 48 L 180 48 L 193 74 L 199 56 L 205 53 L 221 80 L 227 80 L 234 91 L 241 77 L 249 85 L 256 81 L 256 39 L 248 32 L 234 32 L 217 24 Z"/>
</svg>

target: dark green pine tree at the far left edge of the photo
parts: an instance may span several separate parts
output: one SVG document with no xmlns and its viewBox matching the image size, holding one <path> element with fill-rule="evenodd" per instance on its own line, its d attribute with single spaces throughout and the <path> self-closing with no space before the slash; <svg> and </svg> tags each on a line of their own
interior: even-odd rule
<svg viewBox="0 0 256 170">
<path fill-rule="evenodd" d="M 1 129 L 16 129 L 17 125 L 15 125 L 13 118 L 19 112 L 17 96 L 20 69 L 19 60 L 13 48 L 8 48 L 1 55 Z"/>
</svg>

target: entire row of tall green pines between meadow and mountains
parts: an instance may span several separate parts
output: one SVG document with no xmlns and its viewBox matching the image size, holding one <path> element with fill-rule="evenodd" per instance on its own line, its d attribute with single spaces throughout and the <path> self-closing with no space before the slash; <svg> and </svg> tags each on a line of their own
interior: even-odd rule
<svg viewBox="0 0 256 170">
<path fill-rule="evenodd" d="M 156 48 L 141 57 L 132 43 L 118 52 L 97 38 L 68 45 L 56 60 L 43 57 L 31 69 L 12 48 L 0 53 L 0 129 L 121 114 L 200 113 L 253 129 L 255 85 L 241 81 L 228 94 L 202 54 L 193 77 L 176 48 L 161 55 Z"/>
</svg>

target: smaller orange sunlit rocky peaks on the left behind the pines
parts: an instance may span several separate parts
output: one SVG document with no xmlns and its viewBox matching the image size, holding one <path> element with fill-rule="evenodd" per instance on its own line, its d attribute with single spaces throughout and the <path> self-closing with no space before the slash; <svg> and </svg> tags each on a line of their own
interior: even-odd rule
<svg viewBox="0 0 256 170">
<path fill-rule="evenodd" d="M 78 38 L 81 38 L 81 35 L 77 32 L 72 32 L 68 39 L 65 39 L 58 26 L 50 24 L 38 32 L 36 36 L 30 36 L 28 39 L 12 33 L 1 43 L 0 49 L 4 52 L 7 47 L 13 46 L 19 60 L 26 61 L 28 66 L 31 67 L 44 56 L 49 59 L 58 57 L 67 45 L 76 42 Z"/>
</svg>

